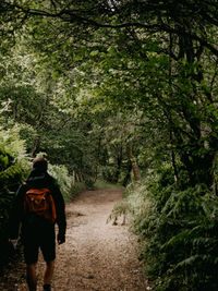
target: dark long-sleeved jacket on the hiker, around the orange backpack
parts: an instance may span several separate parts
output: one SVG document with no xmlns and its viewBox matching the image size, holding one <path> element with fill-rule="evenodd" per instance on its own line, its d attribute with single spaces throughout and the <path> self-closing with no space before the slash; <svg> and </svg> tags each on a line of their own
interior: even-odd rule
<svg viewBox="0 0 218 291">
<path fill-rule="evenodd" d="M 9 223 L 9 237 L 11 239 L 16 239 L 19 237 L 20 231 L 20 223 L 25 226 L 25 215 L 24 215 L 24 196 L 28 189 L 40 189 L 40 187 L 48 187 L 51 192 L 56 204 L 56 211 L 57 211 L 57 225 L 59 228 L 58 237 L 63 239 L 65 235 L 65 205 L 63 201 L 63 196 L 60 192 L 56 180 L 49 175 L 47 172 L 40 172 L 37 170 L 33 170 L 27 179 L 27 181 L 22 184 L 14 198 L 11 218 Z"/>
</svg>

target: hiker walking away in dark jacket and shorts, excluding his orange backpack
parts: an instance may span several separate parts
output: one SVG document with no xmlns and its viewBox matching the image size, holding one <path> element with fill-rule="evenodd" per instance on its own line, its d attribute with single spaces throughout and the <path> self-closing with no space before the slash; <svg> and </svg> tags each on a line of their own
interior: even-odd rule
<svg viewBox="0 0 218 291">
<path fill-rule="evenodd" d="M 47 189 L 52 196 L 56 207 L 56 221 L 47 219 L 44 215 L 28 211 L 24 207 L 26 193 L 31 190 Z M 27 181 L 19 189 L 14 204 L 13 221 L 22 221 L 22 242 L 24 244 L 24 257 L 27 264 L 27 283 L 31 291 L 36 290 L 36 264 L 38 250 L 40 248 L 47 264 L 44 276 L 44 290 L 50 290 L 56 258 L 56 232 L 55 222 L 58 223 L 58 243 L 65 241 L 65 213 L 64 201 L 55 179 L 47 172 L 47 160 L 37 158 L 33 161 L 33 171 Z M 12 223 L 11 238 L 17 237 L 19 226 Z"/>
</svg>

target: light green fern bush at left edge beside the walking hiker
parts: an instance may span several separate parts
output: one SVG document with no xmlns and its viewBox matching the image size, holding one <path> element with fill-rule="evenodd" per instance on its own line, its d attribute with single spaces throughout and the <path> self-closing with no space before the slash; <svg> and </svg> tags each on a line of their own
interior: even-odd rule
<svg viewBox="0 0 218 291">
<path fill-rule="evenodd" d="M 0 129 L 0 268 L 2 268 L 10 255 L 7 229 L 12 199 L 21 181 L 27 174 L 29 162 L 17 126 L 10 131 Z"/>
</svg>

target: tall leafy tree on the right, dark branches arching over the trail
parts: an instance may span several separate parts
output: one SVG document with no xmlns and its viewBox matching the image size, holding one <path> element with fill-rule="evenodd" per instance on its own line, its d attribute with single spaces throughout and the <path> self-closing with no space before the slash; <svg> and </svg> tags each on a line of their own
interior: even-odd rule
<svg viewBox="0 0 218 291">
<path fill-rule="evenodd" d="M 182 163 L 190 183 L 213 184 L 215 1 L 45 0 L 2 5 L 5 27 L 10 15 L 12 28 L 24 23 L 23 33 L 32 35 L 39 59 L 55 69 L 57 77 L 68 80 L 59 104 L 73 107 L 82 82 L 93 83 L 93 89 L 99 86 L 101 93 L 96 93 L 108 102 L 140 108 L 144 120 L 158 126 L 162 145 L 170 144 L 165 151 L 173 151 L 173 168 L 177 160 Z"/>
</svg>

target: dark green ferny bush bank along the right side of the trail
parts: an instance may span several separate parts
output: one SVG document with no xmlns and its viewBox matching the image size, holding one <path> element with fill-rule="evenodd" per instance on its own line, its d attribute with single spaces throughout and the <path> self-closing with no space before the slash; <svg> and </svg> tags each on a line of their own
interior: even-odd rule
<svg viewBox="0 0 218 291">
<path fill-rule="evenodd" d="M 132 228 L 155 290 L 218 290 L 218 198 L 152 175 L 128 191 Z"/>
</svg>

